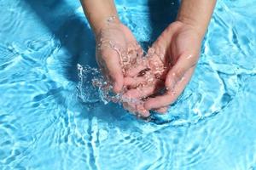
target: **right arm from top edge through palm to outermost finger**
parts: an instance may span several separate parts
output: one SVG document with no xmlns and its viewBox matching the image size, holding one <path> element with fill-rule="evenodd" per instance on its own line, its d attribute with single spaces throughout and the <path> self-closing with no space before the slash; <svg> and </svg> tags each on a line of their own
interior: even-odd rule
<svg viewBox="0 0 256 170">
<path fill-rule="evenodd" d="M 148 99 L 146 109 L 165 108 L 183 92 L 195 70 L 199 59 L 201 42 L 207 31 L 216 1 L 183 0 L 172 23 L 160 35 L 153 46 L 160 48 L 167 59 L 172 60 L 165 86 L 166 94 Z M 182 80 L 182 81 L 181 81 Z"/>
</svg>

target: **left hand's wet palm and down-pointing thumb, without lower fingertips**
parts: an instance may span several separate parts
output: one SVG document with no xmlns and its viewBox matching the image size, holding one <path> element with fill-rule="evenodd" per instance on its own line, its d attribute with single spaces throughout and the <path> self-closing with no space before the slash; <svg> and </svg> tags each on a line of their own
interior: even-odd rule
<svg viewBox="0 0 256 170">
<path fill-rule="evenodd" d="M 96 60 L 103 74 L 113 82 L 113 92 L 121 92 L 125 70 L 143 54 L 131 31 L 120 23 L 108 23 L 96 35 Z"/>
</svg>

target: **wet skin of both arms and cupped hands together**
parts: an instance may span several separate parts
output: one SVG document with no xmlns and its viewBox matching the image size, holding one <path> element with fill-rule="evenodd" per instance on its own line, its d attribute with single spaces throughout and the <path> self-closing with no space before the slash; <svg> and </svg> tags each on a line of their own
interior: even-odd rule
<svg viewBox="0 0 256 170">
<path fill-rule="evenodd" d="M 137 44 L 131 31 L 120 23 L 112 0 L 81 0 L 81 3 L 95 32 L 96 42 L 102 38 L 102 31 L 115 30 L 107 39 L 119 43 L 122 50 L 127 51 L 129 46 Z M 195 71 L 201 52 L 201 42 L 215 3 L 216 0 L 183 0 L 177 20 L 170 24 L 153 43 L 147 60 L 133 68 L 122 71 L 119 55 L 111 48 L 96 53 L 98 60 L 102 61 L 100 63 L 105 73 L 112 78 L 113 91 L 119 93 L 124 86 L 128 87 L 129 90 L 124 96 L 142 101 L 139 105 L 125 103 L 125 108 L 138 112 L 141 116 L 148 116 L 149 110 L 160 113 L 167 111 L 168 106 L 183 92 Z M 97 14 L 94 11 L 97 11 Z M 116 16 L 116 20 L 113 20 L 111 25 L 113 27 L 106 25 L 106 20 L 110 16 Z M 139 54 L 140 49 L 135 53 Z M 157 69 L 160 66 L 163 67 L 159 73 Z M 150 69 L 148 73 L 138 77 L 141 71 L 148 68 Z M 153 82 L 149 84 L 147 84 L 147 74 L 153 78 Z M 137 88 L 138 84 L 145 82 L 145 86 Z M 157 95 L 160 89 L 166 89 L 165 93 Z"/>
</svg>

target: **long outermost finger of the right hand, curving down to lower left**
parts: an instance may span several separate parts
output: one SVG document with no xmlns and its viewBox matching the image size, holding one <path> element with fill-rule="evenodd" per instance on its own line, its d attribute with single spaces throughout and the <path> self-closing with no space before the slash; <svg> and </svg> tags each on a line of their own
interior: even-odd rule
<svg viewBox="0 0 256 170">
<path fill-rule="evenodd" d="M 155 98 L 149 98 L 145 102 L 145 105 L 144 105 L 145 109 L 151 110 L 151 109 L 157 109 L 160 107 L 171 105 L 178 98 L 178 96 L 183 92 L 183 89 L 189 82 L 193 71 L 194 71 L 193 68 L 189 69 L 189 71 L 184 75 L 183 79 L 177 82 L 176 86 L 172 88 L 172 90 L 167 90 L 166 94 L 157 96 Z M 166 79 L 166 81 L 168 80 Z"/>
</svg>

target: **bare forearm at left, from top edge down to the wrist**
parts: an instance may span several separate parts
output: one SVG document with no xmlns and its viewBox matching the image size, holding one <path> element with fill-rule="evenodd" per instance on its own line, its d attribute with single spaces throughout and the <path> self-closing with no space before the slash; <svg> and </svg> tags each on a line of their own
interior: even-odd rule
<svg viewBox="0 0 256 170">
<path fill-rule="evenodd" d="M 80 2 L 84 8 L 84 14 L 96 35 L 103 26 L 106 26 L 110 17 L 114 16 L 113 22 L 119 22 L 113 0 L 80 0 Z"/>
</svg>

